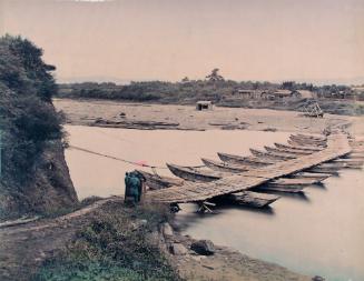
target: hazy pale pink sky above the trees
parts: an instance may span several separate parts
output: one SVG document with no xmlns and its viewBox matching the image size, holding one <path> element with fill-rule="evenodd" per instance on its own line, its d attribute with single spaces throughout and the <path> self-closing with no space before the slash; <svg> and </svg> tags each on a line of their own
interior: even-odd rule
<svg viewBox="0 0 364 281">
<path fill-rule="evenodd" d="M 60 80 L 364 78 L 364 0 L 0 0 L 7 32 Z"/>
</svg>

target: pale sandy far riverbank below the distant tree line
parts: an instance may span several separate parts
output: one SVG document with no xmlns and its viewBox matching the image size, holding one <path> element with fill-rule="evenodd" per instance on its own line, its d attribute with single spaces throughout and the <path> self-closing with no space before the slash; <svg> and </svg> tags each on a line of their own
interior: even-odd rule
<svg viewBox="0 0 364 281">
<path fill-rule="evenodd" d="M 67 123 L 107 128 L 168 130 L 255 130 L 322 133 L 329 126 L 355 117 L 325 114 L 306 118 L 297 111 L 219 108 L 196 111 L 194 106 L 124 103 L 106 100 L 55 99 Z"/>
</svg>

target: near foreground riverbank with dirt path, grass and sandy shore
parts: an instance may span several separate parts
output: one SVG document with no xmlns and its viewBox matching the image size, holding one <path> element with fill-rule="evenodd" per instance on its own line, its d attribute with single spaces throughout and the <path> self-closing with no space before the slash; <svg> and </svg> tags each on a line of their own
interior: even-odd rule
<svg viewBox="0 0 364 281">
<path fill-rule="evenodd" d="M 173 231 L 165 215 L 114 197 L 56 219 L 1 228 L 1 280 L 311 280 L 226 247 L 199 255 L 190 250 L 195 240 Z"/>
</svg>

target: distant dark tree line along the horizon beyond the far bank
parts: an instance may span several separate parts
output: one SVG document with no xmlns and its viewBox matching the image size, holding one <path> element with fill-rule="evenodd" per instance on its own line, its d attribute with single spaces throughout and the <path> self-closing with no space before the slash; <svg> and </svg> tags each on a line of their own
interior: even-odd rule
<svg viewBox="0 0 364 281">
<path fill-rule="evenodd" d="M 318 98 L 347 98 L 352 97 L 353 90 L 347 86 L 323 86 L 312 83 L 298 83 L 285 81 L 273 83 L 268 81 L 234 81 L 225 79 L 219 69 L 215 68 L 205 79 L 190 80 L 185 77 L 179 82 L 167 81 L 131 81 L 129 84 L 116 84 L 114 82 L 82 82 L 59 84 L 58 97 L 60 98 L 89 98 L 110 99 L 126 101 L 158 101 L 158 102 L 193 102 L 196 100 L 211 100 L 219 102 L 224 98 L 236 93 L 238 90 L 308 90 Z M 364 97 L 364 93 L 363 93 Z"/>
</svg>

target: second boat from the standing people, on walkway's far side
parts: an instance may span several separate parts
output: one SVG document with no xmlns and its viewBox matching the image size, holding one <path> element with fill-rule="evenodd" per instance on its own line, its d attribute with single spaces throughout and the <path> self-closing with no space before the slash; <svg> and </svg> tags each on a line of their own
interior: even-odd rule
<svg viewBox="0 0 364 281">
<path fill-rule="evenodd" d="M 195 182 L 209 182 L 219 180 L 223 178 L 222 173 L 216 173 L 211 170 L 203 170 L 196 169 L 191 167 L 181 167 L 176 164 L 167 163 L 168 169 L 170 172 L 178 178 L 181 178 L 187 181 L 195 181 Z"/>
</svg>

